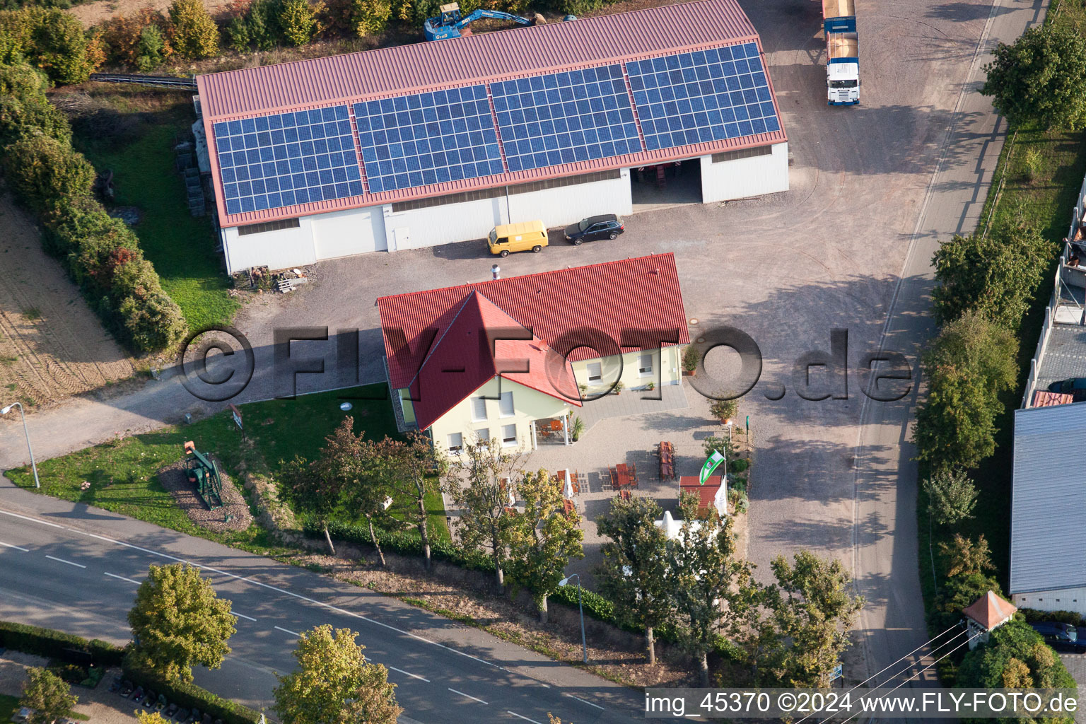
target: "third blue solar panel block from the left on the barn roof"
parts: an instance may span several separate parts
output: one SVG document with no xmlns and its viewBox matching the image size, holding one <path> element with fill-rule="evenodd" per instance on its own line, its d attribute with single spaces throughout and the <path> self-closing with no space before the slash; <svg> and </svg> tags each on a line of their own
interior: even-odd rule
<svg viewBox="0 0 1086 724">
<path fill-rule="evenodd" d="M 492 82 L 510 172 L 642 150 L 621 65 Z"/>
</svg>

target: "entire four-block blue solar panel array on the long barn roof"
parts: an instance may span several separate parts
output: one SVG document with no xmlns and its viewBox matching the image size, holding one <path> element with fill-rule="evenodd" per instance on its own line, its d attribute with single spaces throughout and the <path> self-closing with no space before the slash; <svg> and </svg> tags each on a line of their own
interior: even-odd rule
<svg viewBox="0 0 1086 724">
<path fill-rule="evenodd" d="M 226 212 L 363 195 L 355 138 L 381 193 L 781 129 L 755 42 L 497 80 L 490 97 L 493 114 L 483 84 L 354 103 L 356 137 L 348 105 L 216 123 Z"/>
</svg>

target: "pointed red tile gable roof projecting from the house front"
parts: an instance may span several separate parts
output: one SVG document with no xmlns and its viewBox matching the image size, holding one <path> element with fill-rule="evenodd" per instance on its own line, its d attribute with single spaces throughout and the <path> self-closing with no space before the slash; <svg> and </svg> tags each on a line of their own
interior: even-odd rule
<svg viewBox="0 0 1086 724">
<path fill-rule="evenodd" d="M 412 381 L 419 430 L 429 428 L 495 374 L 580 407 L 572 368 L 538 336 L 497 340 L 493 346 L 489 341 L 522 330 L 493 302 L 471 292 Z M 500 364 L 507 371 L 500 370 Z"/>
</svg>

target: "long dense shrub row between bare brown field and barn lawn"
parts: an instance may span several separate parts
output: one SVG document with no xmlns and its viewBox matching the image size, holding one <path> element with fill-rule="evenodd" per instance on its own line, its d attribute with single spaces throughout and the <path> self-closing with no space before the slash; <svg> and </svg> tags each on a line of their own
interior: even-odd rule
<svg viewBox="0 0 1086 724">
<path fill-rule="evenodd" d="M 67 120 L 46 100 L 43 78 L 26 65 L 0 65 L 0 91 L 8 186 L 45 226 L 46 250 L 118 340 L 137 352 L 168 347 L 185 334 L 181 310 L 135 232 L 91 195 L 94 168 L 72 149 Z"/>
</svg>

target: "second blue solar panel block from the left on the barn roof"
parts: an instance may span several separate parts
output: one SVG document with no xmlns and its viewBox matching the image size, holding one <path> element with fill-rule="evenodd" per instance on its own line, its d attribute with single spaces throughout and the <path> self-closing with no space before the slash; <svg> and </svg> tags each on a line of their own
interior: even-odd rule
<svg viewBox="0 0 1086 724">
<path fill-rule="evenodd" d="M 370 193 L 502 174 L 487 86 L 355 103 Z"/>
</svg>

